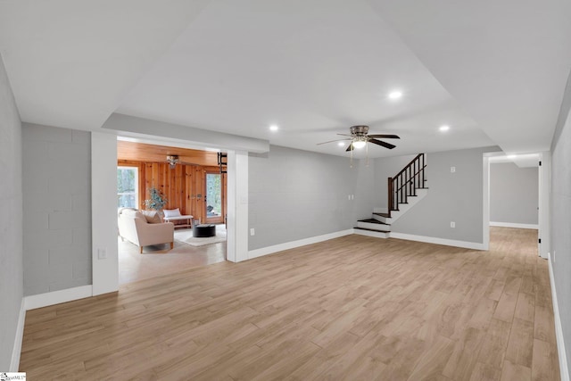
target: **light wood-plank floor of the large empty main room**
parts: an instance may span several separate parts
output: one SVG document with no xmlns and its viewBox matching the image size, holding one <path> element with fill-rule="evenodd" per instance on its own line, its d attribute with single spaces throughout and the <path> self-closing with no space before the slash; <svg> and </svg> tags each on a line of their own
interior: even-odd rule
<svg viewBox="0 0 571 381">
<path fill-rule="evenodd" d="M 29 379 L 557 380 L 536 232 L 345 236 L 29 311 Z"/>
</svg>

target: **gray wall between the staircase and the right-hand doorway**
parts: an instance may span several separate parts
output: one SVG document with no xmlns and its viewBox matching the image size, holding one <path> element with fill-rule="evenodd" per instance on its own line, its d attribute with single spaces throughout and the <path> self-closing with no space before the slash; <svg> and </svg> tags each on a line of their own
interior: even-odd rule
<svg viewBox="0 0 571 381">
<path fill-rule="evenodd" d="M 481 244 L 484 241 L 483 153 L 491 151 L 497 148 L 428 153 L 428 194 L 395 221 L 391 230 Z M 377 166 L 383 160 L 379 159 Z M 456 167 L 454 173 L 451 167 Z M 451 221 L 456 222 L 456 228 L 450 227 Z"/>
</svg>

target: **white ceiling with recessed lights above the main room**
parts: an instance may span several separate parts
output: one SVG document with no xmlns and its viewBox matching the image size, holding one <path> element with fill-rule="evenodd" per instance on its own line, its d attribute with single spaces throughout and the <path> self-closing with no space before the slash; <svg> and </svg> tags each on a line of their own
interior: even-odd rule
<svg viewBox="0 0 571 381">
<path fill-rule="evenodd" d="M 97 129 L 118 112 L 343 155 L 317 144 L 368 124 L 401 136 L 372 157 L 526 153 L 550 146 L 570 5 L 2 1 L 0 53 L 22 120 L 35 123 Z M 395 89 L 402 98 L 388 99 Z"/>
</svg>

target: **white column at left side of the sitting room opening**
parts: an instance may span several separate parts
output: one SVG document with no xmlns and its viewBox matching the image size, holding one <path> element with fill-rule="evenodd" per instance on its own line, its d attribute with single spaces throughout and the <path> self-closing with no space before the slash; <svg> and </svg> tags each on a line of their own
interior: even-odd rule
<svg viewBox="0 0 571 381">
<path fill-rule="evenodd" d="M 117 137 L 91 133 L 93 294 L 119 290 L 117 255 Z"/>
</svg>

